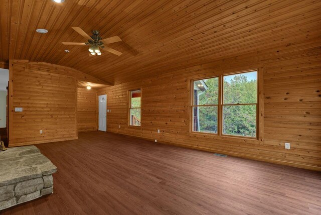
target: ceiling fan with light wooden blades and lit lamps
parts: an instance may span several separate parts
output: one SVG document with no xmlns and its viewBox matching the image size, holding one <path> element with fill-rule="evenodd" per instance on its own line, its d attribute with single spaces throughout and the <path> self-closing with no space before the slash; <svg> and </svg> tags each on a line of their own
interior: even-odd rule
<svg viewBox="0 0 321 215">
<path fill-rule="evenodd" d="M 106 50 L 108 52 L 111 52 L 111 53 L 118 55 L 118 56 L 120 56 L 122 54 L 121 52 L 116 51 L 115 49 L 104 46 L 104 44 L 110 44 L 110 43 L 115 43 L 115 42 L 121 41 L 121 39 L 118 36 L 102 39 L 99 36 L 99 31 L 97 31 L 97 30 L 91 31 L 93 35 L 89 36 L 88 34 L 86 34 L 86 32 L 84 32 L 79 27 L 71 27 L 71 28 L 74 29 L 76 32 L 78 32 L 81 36 L 86 38 L 88 40 L 88 42 L 85 42 L 85 43 L 62 42 L 62 44 L 64 44 L 64 45 L 88 45 L 89 46 L 88 51 L 90 52 L 91 56 L 95 56 L 96 54 L 101 55 L 99 48 Z"/>
</svg>

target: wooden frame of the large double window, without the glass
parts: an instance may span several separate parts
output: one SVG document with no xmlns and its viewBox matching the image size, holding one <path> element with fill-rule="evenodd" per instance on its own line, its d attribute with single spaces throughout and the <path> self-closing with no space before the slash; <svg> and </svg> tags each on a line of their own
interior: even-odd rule
<svg viewBox="0 0 321 215">
<path fill-rule="evenodd" d="M 223 134 L 223 83 L 224 83 L 224 76 L 228 75 L 235 75 L 235 74 L 241 74 L 241 73 L 247 73 L 247 72 L 253 72 L 256 71 L 256 77 L 257 77 L 257 87 L 256 87 L 256 137 L 248 137 L 248 136 L 241 136 L 241 135 L 229 135 L 229 134 Z M 249 70 L 242 70 L 242 71 L 230 71 L 230 72 L 216 72 L 217 75 L 205 75 L 204 77 L 200 78 L 198 76 L 197 78 L 190 79 L 190 133 L 191 135 L 202 135 L 202 136 L 212 136 L 216 137 L 216 139 L 246 139 L 249 141 L 259 141 L 260 143 L 263 141 L 263 69 L 262 68 L 253 68 Z M 219 102 L 218 102 L 218 119 L 217 119 L 217 133 L 209 133 L 209 132 L 197 132 L 193 131 L 193 124 L 194 124 L 194 118 L 193 118 L 193 107 L 194 106 L 202 106 L 202 105 L 194 105 L 194 81 L 197 80 L 203 80 L 203 79 L 209 79 L 209 78 L 219 78 Z M 250 105 L 252 103 L 245 103 L 245 104 L 227 104 L 227 105 Z M 212 105 L 211 105 L 212 106 Z M 213 105 L 214 106 L 214 105 Z M 254 142 L 253 142 L 254 143 Z M 255 142 L 256 143 L 256 142 Z"/>
</svg>

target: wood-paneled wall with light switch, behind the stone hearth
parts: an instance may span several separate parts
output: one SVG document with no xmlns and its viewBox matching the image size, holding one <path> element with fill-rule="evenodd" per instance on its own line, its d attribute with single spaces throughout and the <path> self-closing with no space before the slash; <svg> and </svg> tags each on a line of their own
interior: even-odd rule
<svg viewBox="0 0 321 215">
<path fill-rule="evenodd" d="M 10 60 L 10 147 L 77 139 L 77 80 L 65 70 Z"/>
</svg>

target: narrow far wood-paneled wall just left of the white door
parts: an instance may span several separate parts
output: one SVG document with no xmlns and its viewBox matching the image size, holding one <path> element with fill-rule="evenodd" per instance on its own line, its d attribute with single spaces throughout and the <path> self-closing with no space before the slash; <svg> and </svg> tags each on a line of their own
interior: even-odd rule
<svg viewBox="0 0 321 215">
<path fill-rule="evenodd" d="M 98 98 L 96 89 L 78 88 L 78 132 L 97 131 Z"/>
</svg>

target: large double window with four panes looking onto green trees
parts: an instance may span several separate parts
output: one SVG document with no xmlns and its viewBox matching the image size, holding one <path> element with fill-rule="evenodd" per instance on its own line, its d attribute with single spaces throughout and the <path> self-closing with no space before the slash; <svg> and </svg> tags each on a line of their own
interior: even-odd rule
<svg viewBox="0 0 321 215">
<path fill-rule="evenodd" d="M 193 81 L 192 131 L 257 137 L 257 71 Z"/>
</svg>

